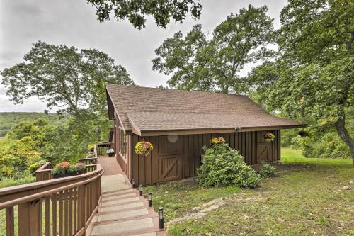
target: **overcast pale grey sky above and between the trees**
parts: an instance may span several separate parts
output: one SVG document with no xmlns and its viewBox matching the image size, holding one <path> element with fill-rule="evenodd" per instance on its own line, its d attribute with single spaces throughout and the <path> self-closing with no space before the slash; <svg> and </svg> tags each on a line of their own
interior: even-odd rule
<svg viewBox="0 0 354 236">
<path fill-rule="evenodd" d="M 202 24 L 205 32 L 212 30 L 239 9 L 268 5 L 268 15 L 274 18 L 275 28 L 280 27 L 279 14 L 285 0 L 200 0 L 202 16 L 199 21 L 186 19 L 182 24 L 170 23 L 166 29 L 155 26 L 148 18 L 143 30 L 133 28 L 127 21 L 99 23 L 95 9 L 86 0 L 1 0 L 0 1 L 0 70 L 23 62 L 23 55 L 32 43 L 42 40 L 50 44 L 65 44 L 76 48 L 96 48 L 108 53 L 117 64 L 127 69 L 139 86 L 166 85 L 164 74 L 152 71 L 154 50 L 181 30 L 188 32 L 193 25 Z M 242 73 L 246 73 L 247 67 Z M 45 103 L 33 97 L 21 105 L 13 105 L 0 85 L 0 111 L 44 111 Z M 54 110 L 55 111 L 55 110 Z"/>
</svg>

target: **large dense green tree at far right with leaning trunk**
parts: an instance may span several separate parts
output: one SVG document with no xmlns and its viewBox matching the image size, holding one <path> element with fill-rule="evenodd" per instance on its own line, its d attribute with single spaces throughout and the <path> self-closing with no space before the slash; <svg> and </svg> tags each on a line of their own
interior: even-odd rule
<svg viewBox="0 0 354 236">
<path fill-rule="evenodd" d="M 273 108 L 334 125 L 354 164 L 354 142 L 346 129 L 354 95 L 353 9 L 353 1 L 346 0 L 289 1 L 278 31 L 282 56 L 251 77 Z"/>
</svg>

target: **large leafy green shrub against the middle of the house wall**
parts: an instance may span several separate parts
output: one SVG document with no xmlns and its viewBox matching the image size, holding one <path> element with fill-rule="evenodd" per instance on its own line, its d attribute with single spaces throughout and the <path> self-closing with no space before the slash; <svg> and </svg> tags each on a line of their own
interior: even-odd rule
<svg viewBox="0 0 354 236">
<path fill-rule="evenodd" d="M 197 181 L 202 186 L 240 186 L 255 188 L 261 176 L 244 162 L 244 157 L 227 144 L 203 147 L 202 166 L 197 170 Z"/>
</svg>

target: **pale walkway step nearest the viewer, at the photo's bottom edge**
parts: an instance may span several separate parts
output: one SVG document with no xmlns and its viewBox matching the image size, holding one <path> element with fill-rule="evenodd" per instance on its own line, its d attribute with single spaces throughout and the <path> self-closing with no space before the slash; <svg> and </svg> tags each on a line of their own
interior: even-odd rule
<svg viewBox="0 0 354 236">
<path fill-rule="evenodd" d="M 116 234 L 119 232 L 133 230 L 143 230 L 144 228 L 154 227 L 152 218 L 144 218 L 138 220 L 129 220 L 124 222 L 110 223 L 109 225 L 93 226 L 91 235 Z"/>
</svg>

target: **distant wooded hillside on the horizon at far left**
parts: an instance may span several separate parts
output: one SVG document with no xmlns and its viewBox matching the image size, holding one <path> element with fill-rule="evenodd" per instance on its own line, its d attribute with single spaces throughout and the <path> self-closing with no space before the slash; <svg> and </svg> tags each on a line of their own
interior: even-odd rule
<svg viewBox="0 0 354 236">
<path fill-rule="evenodd" d="M 39 118 L 50 120 L 53 125 L 64 123 L 67 118 L 59 118 L 57 113 L 39 112 L 0 112 L 0 137 L 5 136 L 8 130 L 24 120 L 37 120 Z"/>
</svg>

